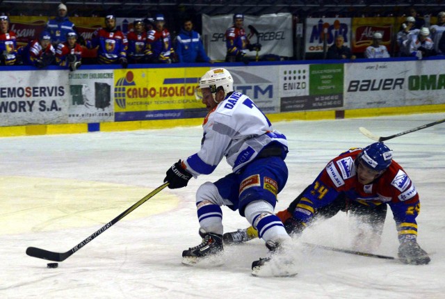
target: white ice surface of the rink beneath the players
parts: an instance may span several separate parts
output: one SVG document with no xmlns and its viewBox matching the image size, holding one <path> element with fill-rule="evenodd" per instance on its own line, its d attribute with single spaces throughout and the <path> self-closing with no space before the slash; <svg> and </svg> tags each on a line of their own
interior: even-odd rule
<svg viewBox="0 0 445 299">
<path fill-rule="evenodd" d="M 290 152 L 285 209 L 327 161 L 369 140 L 444 118 L 444 113 L 347 120 L 278 122 Z M 0 298 L 445 298 L 445 124 L 388 140 L 394 159 L 421 196 L 419 243 L 427 266 L 310 249 L 297 244 L 299 273 L 291 278 L 250 275 L 264 257 L 261 240 L 225 248 L 216 268 L 181 264 L 181 252 L 200 243 L 195 191 L 230 171 L 187 188 L 164 189 L 88 243 L 58 268 L 28 257 L 29 246 L 65 252 L 163 183 L 165 171 L 200 148 L 202 129 L 100 132 L 0 138 Z M 223 207 L 225 231 L 247 227 Z M 346 213 L 307 229 L 301 241 L 350 248 Z M 377 254 L 396 256 L 391 213 Z M 300 241 L 298 241 L 300 243 Z"/>
</svg>

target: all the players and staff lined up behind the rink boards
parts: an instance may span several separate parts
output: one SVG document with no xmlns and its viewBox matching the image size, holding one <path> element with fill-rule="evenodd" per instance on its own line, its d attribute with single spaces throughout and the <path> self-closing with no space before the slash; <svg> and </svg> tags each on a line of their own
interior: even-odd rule
<svg viewBox="0 0 445 299">
<path fill-rule="evenodd" d="M 84 40 L 67 17 L 67 6 L 60 3 L 56 17 L 49 19 L 40 36 L 17 49 L 17 37 L 9 28 L 10 19 L 8 15 L 1 14 L 0 65 L 33 65 L 38 68 L 60 65 L 74 71 L 83 63 L 84 49 L 97 51 L 92 63 L 118 64 L 123 68 L 127 68 L 129 63 L 213 63 L 204 50 L 200 33 L 194 30 L 193 18 L 184 15 L 181 20 L 181 30 L 172 38 L 162 14 L 156 14 L 154 18 L 135 19 L 133 29 L 127 34 L 116 26 L 115 15 L 106 15 L 104 26 L 97 29 L 90 40 Z M 256 51 L 257 58 L 261 51 L 259 43 L 250 42 L 252 36 L 246 34 L 243 21 L 244 15 L 235 14 L 233 26 L 225 33 L 227 62 L 248 63 L 247 51 Z M 428 27 L 425 20 L 411 8 L 410 15 L 397 34 L 398 56 L 422 59 L 444 54 L 444 31 L 445 12 L 438 13 L 437 24 Z M 387 47 L 381 42 L 382 33 L 373 33 L 372 45 L 366 48 L 364 58 L 388 58 Z M 343 36 L 337 36 L 324 58 L 354 60 L 356 56 L 343 43 Z"/>
</svg>

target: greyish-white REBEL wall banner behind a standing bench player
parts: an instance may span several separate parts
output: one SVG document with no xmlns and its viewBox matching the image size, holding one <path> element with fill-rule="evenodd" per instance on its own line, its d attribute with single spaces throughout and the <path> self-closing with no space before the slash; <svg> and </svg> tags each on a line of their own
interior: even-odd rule
<svg viewBox="0 0 445 299">
<path fill-rule="evenodd" d="M 225 31 L 233 25 L 233 15 L 202 15 L 202 38 L 207 55 L 213 60 L 225 60 L 227 47 Z M 248 29 L 254 26 L 258 35 Z M 292 15 L 290 13 L 278 13 L 254 17 L 244 16 L 245 34 L 250 35 L 251 43 L 259 42 L 261 51 L 259 55 L 275 54 L 277 56 L 293 56 Z M 247 55 L 254 58 L 256 51 L 247 51 Z"/>
</svg>

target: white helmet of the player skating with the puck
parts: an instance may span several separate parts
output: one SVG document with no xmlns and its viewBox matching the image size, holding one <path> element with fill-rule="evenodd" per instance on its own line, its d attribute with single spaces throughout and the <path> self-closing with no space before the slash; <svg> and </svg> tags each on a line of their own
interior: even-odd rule
<svg viewBox="0 0 445 299">
<path fill-rule="evenodd" d="M 234 79 L 229 71 L 222 67 L 209 70 L 201 77 L 200 87 L 195 90 L 196 99 L 202 99 L 202 88 L 210 88 L 213 99 L 215 99 L 219 87 L 223 88 L 226 95 L 234 91 Z"/>
</svg>

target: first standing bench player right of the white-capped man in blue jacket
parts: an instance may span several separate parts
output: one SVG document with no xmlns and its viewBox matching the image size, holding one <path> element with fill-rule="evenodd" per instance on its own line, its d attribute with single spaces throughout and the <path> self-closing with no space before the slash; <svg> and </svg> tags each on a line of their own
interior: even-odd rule
<svg viewBox="0 0 445 299">
<path fill-rule="evenodd" d="M 127 68 L 128 42 L 122 31 L 116 29 L 114 15 L 105 17 L 105 28 L 100 28 L 92 34 L 91 45 L 97 48 L 97 62 L 102 65 L 120 63 Z"/>
</svg>

